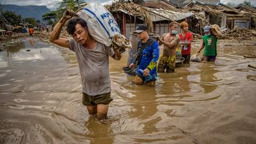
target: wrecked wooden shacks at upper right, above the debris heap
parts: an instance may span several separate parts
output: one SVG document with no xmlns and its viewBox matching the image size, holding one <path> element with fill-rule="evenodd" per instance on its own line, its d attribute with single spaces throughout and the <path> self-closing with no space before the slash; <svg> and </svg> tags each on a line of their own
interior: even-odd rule
<svg viewBox="0 0 256 144">
<path fill-rule="evenodd" d="M 253 8 L 244 12 L 225 4 L 191 2 L 184 6 L 184 9 L 201 15 L 202 19 L 207 21 L 206 25 L 218 24 L 220 28 L 227 29 L 234 29 L 235 26 L 245 29 L 255 28 L 256 10 L 253 11 Z M 205 26 L 205 22 L 202 25 Z"/>
</svg>

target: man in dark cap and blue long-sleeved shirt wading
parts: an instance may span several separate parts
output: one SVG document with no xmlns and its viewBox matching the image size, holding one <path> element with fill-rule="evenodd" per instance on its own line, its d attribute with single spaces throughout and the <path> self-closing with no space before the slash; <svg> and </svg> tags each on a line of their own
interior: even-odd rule
<svg viewBox="0 0 256 144">
<path fill-rule="evenodd" d="M 135 68 L 136 76 L 135 84 L 144 84 L 154 86 L 157 79 L 157 60 L 159 58 L 158 42 L 148 36 L 147 26 L 145 24 L 138 24 L 136 31 L 140 42 L 138 43 L 137 53 L 134 60 L 129 67 Z"/>
</svg>

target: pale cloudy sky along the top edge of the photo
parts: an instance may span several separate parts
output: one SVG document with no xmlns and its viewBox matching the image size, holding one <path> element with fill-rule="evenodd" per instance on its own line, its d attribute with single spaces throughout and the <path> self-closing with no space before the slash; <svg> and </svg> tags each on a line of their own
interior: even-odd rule
<svg viewBox="0 0 256 144">
<path fill-rule="evenodd" d="M 54 10 L 56 7 L 58 7 L 58 4 L 61 0 L 0 0 L 0 3 L 2 4 L 17 4 L 20 6 L 24 5 L 45 5 L 49 9 Z M 93 1 L 93 2 L 106 2 L 109 0 L 85 0 L 86 2 Z M 243 3 L 244 0 L 221 0 L 221 3 L 228 3 L 232 2 L 235 4 Z M 256 0 L 247 0 L 251 1 L 251 3 L 256 6 Z"/>
</svg>

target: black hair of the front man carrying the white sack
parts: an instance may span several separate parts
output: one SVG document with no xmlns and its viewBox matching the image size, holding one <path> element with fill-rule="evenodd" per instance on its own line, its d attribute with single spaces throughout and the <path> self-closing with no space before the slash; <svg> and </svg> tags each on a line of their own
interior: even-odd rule
<svg viewBox="0 0 256 144">
<path fill-rule="evenodd" d="M 67 25 L 67 31 L 70 35 L 74 35 L 74 32 L 76 30 L 76 24 L 81 24 L 83 28 L 87 28 L 87 22 L 83 19 L 80 18 L 74 18 L 69 20 L 68 25 Z"/>
</svg>

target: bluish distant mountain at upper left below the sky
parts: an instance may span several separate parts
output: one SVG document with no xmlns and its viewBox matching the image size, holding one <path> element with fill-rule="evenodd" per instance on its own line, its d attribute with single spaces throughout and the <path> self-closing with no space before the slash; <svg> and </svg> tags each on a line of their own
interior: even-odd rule
<svg viewBox="0 0 256 144">
<path fill-rule="evenodd" d="M 22 18 L 33 17 L 36 20 L 41 20 L 42 15 L 51 12 L 46 6 L 17 6 L 15 4 L 5 4 L 4 10 L 15 12 L 21 15 Z"/>
</svg>

